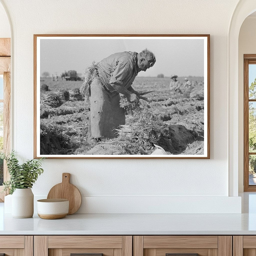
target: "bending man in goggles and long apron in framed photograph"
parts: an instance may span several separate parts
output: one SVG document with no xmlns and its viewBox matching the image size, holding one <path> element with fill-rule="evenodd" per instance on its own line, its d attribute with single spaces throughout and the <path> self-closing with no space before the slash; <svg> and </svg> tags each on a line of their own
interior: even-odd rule
<svg viewBox="0 0 256 256">
<path fill-rule="evenodd" d="M 118 52 L 96 63 L 94 77 L 88 86 L 90 116 L 88 142 L 117 137 L 114 129 L 125 124 L 124 109 L 120 107 L 120 93 L 130 101 L 137 101 L 140 93 L 132 88 L 138 72 L 155 64 L 154 54 L 145 49 L 137 52 Z"/>
</svg>

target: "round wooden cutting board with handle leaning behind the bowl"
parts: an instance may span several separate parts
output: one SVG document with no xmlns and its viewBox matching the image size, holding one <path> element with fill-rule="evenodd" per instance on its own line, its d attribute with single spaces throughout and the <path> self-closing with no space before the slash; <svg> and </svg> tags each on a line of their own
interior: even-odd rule
<svg viewBox="0 0 256 256">
<path fill-rule="evenodd" d="M 53 186 L 47 199 L 61 198 L 69 200 L 68 215 L 75 213 L 81 206 L 81 193 L 76 186 L 69 183 L 70 173 L 62 173 L 62 182 Z"/>
</svg>

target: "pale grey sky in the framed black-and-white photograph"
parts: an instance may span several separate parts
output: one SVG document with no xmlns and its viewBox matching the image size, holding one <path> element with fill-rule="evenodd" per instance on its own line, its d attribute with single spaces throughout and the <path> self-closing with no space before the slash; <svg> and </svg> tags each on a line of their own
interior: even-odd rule
<svg viewBox="0 0 256 256">
<path fill-rule="evenodd" d="M 122 51 L 148 48 L 156 57 L 155 65 L 138 76 L 204 76 L 203 39 L 41 39 L 40 72 L 76 70 L 84 73 L 92 61 Z"/>
</svg>

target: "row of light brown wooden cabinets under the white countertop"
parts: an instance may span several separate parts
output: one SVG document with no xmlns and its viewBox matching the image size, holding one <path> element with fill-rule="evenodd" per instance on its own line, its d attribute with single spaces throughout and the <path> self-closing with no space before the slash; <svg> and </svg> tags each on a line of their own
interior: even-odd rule
<svg viewBox="0 0 256 256">
<path fill-rule="evenodd" d="M 256 236 L 0 236 L 0 256 L 256 256 Z"/>
</svg>

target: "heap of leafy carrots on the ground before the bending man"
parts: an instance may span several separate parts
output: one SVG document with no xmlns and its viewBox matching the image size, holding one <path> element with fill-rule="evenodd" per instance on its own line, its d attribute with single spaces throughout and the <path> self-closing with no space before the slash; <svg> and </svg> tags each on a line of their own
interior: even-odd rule
<svg viewBox="0 0 256 256">
<path fill-rule="evenodd" d="M 127 97 L 121 97 L 121 106 L 126 115 L 131 119 L 126 125 L 120 125 L 115 129 L 119 135 L 113 139 L 120 145 L 123 151 L 132 154 L 151 154 L 154 144 L 172 149 L 168 125 L 163 122 L 161 116 L 154 114 L 150 109 L 145 109 L 141 102 L 130 102 Z"/>
</svg>

